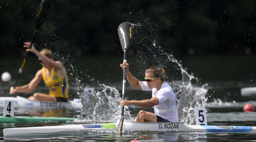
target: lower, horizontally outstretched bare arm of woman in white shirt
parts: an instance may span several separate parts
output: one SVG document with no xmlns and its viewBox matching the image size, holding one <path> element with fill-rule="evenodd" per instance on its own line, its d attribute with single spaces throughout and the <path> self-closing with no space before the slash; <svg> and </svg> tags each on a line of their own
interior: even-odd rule
<svg viewBox="0 0 256 142">
<path fill-rule="evenodd" d="M 152 97 L 151 99 L 144 100 L 122 100 L 120 102 L 121 106 L 130 106 L 135 105 L 141 108 L 151 108 L 159 104 L 159 100 L 157 97 Z"/>
</svg>

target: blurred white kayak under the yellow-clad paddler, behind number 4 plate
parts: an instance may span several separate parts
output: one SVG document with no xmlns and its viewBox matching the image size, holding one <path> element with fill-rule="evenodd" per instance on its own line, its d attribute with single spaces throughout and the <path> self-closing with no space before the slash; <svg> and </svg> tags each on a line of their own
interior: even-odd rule
<svg viewBox="0 0 256 142">
<path fill-rule="evenodd" d="M 4 107 L 5 100 L 14 100 L 15 109 L 19 108 L 31 108 L 31 109 L 58 109 L 66 108 L 70 110 L 81 109 L 83 104 L 80 99 L 69 100 L 68 102 L 43 102 L 36 100 L 29 100 L 27 98 L 17 96 L 17 97 L 0 97 L 0 108 Z"/>
</svg>

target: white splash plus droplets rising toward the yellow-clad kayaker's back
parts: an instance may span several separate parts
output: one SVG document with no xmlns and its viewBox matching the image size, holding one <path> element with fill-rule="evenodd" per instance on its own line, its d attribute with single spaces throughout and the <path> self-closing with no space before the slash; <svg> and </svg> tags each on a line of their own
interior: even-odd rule
<svg viewBox="0 0 256 142">
<path fill-rule="evenodd" d="M 68 56 L 66 59 L 70 59 Z M 67 72 L 69 78 L 69 90 L 70 95 L 75 98 L 81 98 L 83 108 L 80 111 L 80 115 L 77 116 L 77 122 L 113 122 L 120 119 L 120 93 L 115 87 L 110 87 L 104 84 L 100 84 L 99 80 L 89 75 L 87 69 L 82 69 L 83 64 L 76 64 L 73 66 L 74 60 L 62 60 L 68 65 Z M 80 71 L 78 70 L 80 68 Z M 86 79 L 81 78 L 81 76 Z M 85 81 L 89 82 L 96 88 L 94 92 L 86 92 L 84 88 L 90 87 L 90 85 L 84 84 Z M 71 93 L 73 91 L 73 94 Z M 125 106 L 124 118 L 131 120 L 130 111 Z"/>
</svg>

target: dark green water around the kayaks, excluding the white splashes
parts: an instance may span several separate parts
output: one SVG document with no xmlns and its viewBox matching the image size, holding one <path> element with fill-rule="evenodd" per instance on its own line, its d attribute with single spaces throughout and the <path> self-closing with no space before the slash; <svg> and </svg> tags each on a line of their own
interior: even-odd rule
<svg viewBox="0 0 256 142">
<path fill-rule="evenodd" d="M 254 75 L 254 60 L 256 56 L 203 56 L 203 57 L 179 57 L 183 68 L 186 68 L 188 73 L 198 78 L 191 80 L 192 87 L 202 87 L 203 84 L 207 89 L 206 102 L 207 121 L 208 125 L 235 125 L 235 126 L 256 126 L 255 113 L 244 113 L 243 106 L 250 102 L 255 105 L 255 98 L 241 96 L 240 89 L 242 87 L 254 86 L 256 76 Z M 181 71 L 177 68 L 177 64 L 168 61 L 166 57 L 157 60 L 148 60 L 143 57 L 127 56 L 130 63 L 130 71 L 132 74 L 142 80 L 144 71 L 150 66 L 164 66 L 167 79 L 174 91 L 177 89 L 177 84 L 181 84 Z M 18 75 L 18 69 L 22 64 L 23 59 L 2 57 L 0 59 L 0 73 L 8 71 L 12 75 L 11 82 L 1 82 L 1 95 L 8 96 L 9 88 L 14 84 Z M 143 61 L 143 62 L 142 62 Z M 160 61 L 160 62 L 159 62 Z M 79 97 L 79 90 L 84 87 L 95 87 L 95 90 L 101 90 L 100 84 L 108 85 L 116 88 L 119 92 L 122 90 L 122 70 L 119 64 L 122 63 L 122 55 L 120 57 L 72 57 L 70 60 L 63 60 L 69 74 L 69 83 L 72 89 L 70 90 L 70 99 Z M 38 59 L 31 56 L 25 64 L 23 73 L 18 85 L 28 83 L 33 77 L 36 70 L 40 69 L 41 65 Z M 43 83 L 40 83 L 35 91 L 46 91 Z M 26 93 L 16 95 L 30 96 L 33 94 Z M 129 83 L 126 85 L 126 99 L 147 99 L 151 93 L 136 91 L 131 88 Z M 117 98 L 118 100 L 119 98 Z M 120 98 L 121 99 L 121 98 Z M 118 106 L 117 106 L 118 107 Z M 140 108 L 129 108 L 131 118 L 134 119 Z M 146 109 L 152 111 L 152 109 Z M 78 111 L 70 111 L 70 117 L 77 117 L 80 114 Z M 30 112 L 25 114 L 18 113 L 16 115 L 31 115 Z M 86 119 L 86 118 L 84 118 Z M 108 120 L 107 120 L 108 121 Z M 97 122 L 97 119 L 89 122 Z M 116 120 L 115 120 L 116 122 Z M 54 126 L 63 125 L 67 122 L 45 122 L 45 123 L 2 123 L 1 129 L 14 127 L 32 127 L 32 126 Z M 88 120 L 75 123 L 88 123 Z M 88 132 L 79 133 L 77 135 L 54 135 L 50 138 L 29 138 L 29 139 L 12 139 L 3 140 L 3 133 L 0 131 L 0 139 L 2 141 L 131 141 L 137 139 L 139 141 L 254 141 L 254 134 L 244 133 L 173 133 L 173 132 L 129 132 L 120 134 L 109 134 L 103 132 Z"/>
</svg>

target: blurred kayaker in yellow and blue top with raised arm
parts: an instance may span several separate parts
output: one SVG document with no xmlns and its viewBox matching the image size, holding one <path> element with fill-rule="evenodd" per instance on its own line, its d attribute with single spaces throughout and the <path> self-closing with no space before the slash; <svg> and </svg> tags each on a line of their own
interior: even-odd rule
<svg viewBox="0 0 256 142">
<path fill-rule="evenodd" d="M 40 64 L 43 66 L 42 69 L 36 72 L 34 79 L 30 81 L 29 84 L 11 87 L 10 93 L 27 93 L 32 91 L 41 79 L 43 79 L 45 85 L 49 87 L 49 94 L 44 93 L 34 93 L 30 96 L 30 100 L 40 100 L 49 102 L 67 102 L 68 99 L 68 80 L 67 72 L 62 62 L 54 61 L 52 51 L 49 49 L 42 49 L 40 52 L 35 49 L 32 44 L 31 48 L 30 42 L 25 42 L 23 47 L 28 48 L 26 51 L 34 53 L 38 56 Z"/>
</svg>

